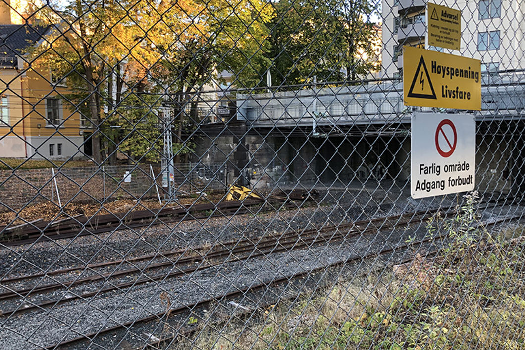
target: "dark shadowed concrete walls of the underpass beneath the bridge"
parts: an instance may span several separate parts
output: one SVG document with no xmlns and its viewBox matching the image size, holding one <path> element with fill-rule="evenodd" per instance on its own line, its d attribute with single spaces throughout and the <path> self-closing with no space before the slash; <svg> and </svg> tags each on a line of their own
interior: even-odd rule
<svg viewBox="0 0 525 350">
<path fill-rule="evenodd" d="M 392 179 L 403 184 L 410 179 L 408 134 L 329 138 L 248 135 L 242 147 L 234 138 L 220 136 L 214 142 L 199 142 L 197 147 L 203 163 L 229 164 L 229 183 L 241 176 L 233 174 L 239 154 L 247 157 L 242 176 L 254 187 L 298 182 L 347 185 Z M 522 161 L 514 158 L 522 157 L 523 152 L 525 149 L 520 150 L 512 136 L 478 135 L 476 189 L 507 193 L 516 187 Z"/>
</svg>

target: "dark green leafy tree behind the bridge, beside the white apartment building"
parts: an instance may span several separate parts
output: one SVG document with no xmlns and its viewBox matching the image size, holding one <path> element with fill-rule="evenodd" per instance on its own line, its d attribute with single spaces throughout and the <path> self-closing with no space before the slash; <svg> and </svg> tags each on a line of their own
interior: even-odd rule
<svg viewBox="0 0 525 350">
<path fill-rule="evenodd" d="M 370 21 L 368 0 L 280 0 L 275 4 L 269 57 L 275 84 L 355 80 L 379 70 L 381 38 Z"/>
</svg>

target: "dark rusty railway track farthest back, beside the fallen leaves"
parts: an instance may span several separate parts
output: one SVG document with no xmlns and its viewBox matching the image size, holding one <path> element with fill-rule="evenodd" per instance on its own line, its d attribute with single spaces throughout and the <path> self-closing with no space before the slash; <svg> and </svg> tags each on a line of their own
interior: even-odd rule
<svg viewBox="0 0 525 350">
<path fill-rule="evenodd" d="M 104 214 L 92 217 L 77 215 L 70 218 L 43 221 L 41 219 L 26 222 L 22 225 L 0 226 L 0 244 L 18 246 L 38 241 L 49 241 L 63 238 L 100 234 L 120 229 L 133 229 L 144 226 L 180 222 L 183 220 L 224 217 L 250 213 L 257 206 L 266 206 L 262 211 L 283 207 L 297 208 L 296 201 L 309 200 L 311 197 L 291 192 L 287 196 L 270 196 L 268 199 L 245 199 L 222 201 L 218 204 L 198 204 L 164 208 L 161 210 L 140 210 L 131 213 Z"/>
</svg>

